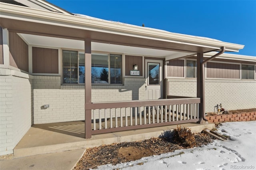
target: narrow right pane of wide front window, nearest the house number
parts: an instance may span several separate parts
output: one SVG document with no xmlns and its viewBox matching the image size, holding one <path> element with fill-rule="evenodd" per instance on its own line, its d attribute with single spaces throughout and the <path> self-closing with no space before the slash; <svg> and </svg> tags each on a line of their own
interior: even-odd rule
<svg viewBox="0 0 256 170">
<path fill-rule="evenodd" d="M 122 55 L 110 54 L 110 84 L 122 84 Z"/>
</svg>

